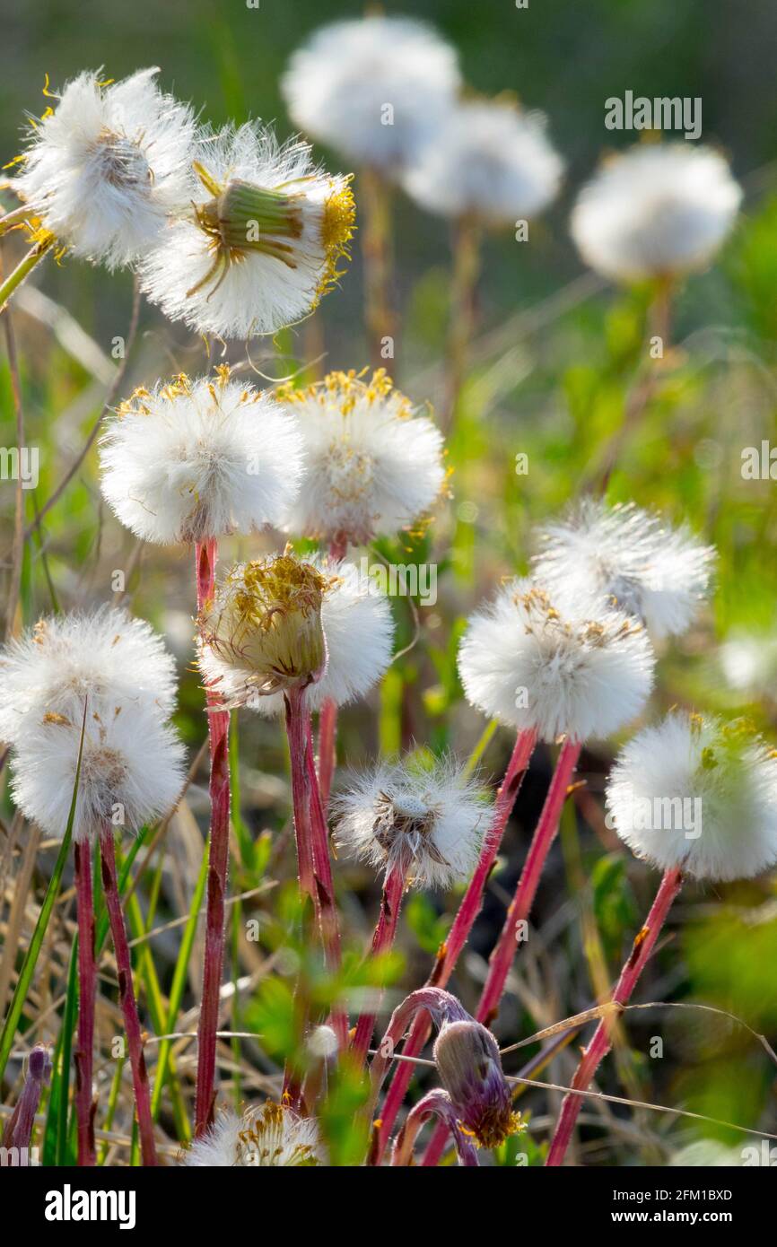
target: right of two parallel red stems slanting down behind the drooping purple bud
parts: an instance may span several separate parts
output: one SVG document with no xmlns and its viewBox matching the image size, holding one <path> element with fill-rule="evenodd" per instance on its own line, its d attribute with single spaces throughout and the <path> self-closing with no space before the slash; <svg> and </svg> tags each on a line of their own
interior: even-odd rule
<svg viewBox="0 0 777 1247">
<path fill-rule="evenodd" d="M 508 981 L 513 959 L 518 951 L 519 923 L 525 922 L 531 912 L 543 867 L 548 859 L 550 845 L 559 831 L 561 811 L 564 809 L 564 802 L 575 767 L 577 766 L 581 748 L 581 742 L 566 739 L 559 752 L 556 768 L 550 781 L 550 788 L 548 789 L 536 829 L 531 837 L 531 844 L 529 845 L 524 869 L 518 880 L 515 895 L 508 909 L 499 940 L 489 959 L 489 973 L 483 985 L 475 1013 L 476 1020 L 483 1023 L 484 1026 L 490 1026 L 499 1011 L 499 1001 Z M 444 1126 L 440 1125 L 437 1127 L 424 1155 L 424 1165 L 437 1165 L 445 1146 L 446 1134 Z"/>
</svg>

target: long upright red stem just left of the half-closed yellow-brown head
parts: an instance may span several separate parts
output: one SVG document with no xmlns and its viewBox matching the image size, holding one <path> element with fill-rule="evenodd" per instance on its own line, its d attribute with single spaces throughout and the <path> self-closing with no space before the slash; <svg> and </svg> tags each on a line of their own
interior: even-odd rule
<svg viewBox="0 0 777 1247">
<path fill-rule="evenodd" d="M 197 559 L 197 611 L 211 601 L 216 582 L 218 546 L 215 539 L 201 541 Z M 206 907 L 202 1003 L 197 1028 L 197 1099 L 195 1137 L 213 1122 L 216 1102 L 216 1049 L 221 980 L 224 963 L 224 900 L 229 868 L 229 712 L 216 710 L 218 695 L 206 688 L 211 751 L 211 832 L 208 837 L 208 884 Z"/>
</svg>

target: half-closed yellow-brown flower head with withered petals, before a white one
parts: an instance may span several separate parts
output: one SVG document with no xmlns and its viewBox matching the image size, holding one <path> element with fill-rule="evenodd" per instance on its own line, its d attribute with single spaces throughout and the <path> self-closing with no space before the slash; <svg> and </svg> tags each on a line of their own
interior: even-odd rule
<svg viewBox="0 0 777 1247">
<path fill-rule="evenodd" d="M 229 706 L 307 688 L 327 665 L 326 577 L 292 554 L 237 564 L 198 620 L 206 682 Z"/>
</svg>

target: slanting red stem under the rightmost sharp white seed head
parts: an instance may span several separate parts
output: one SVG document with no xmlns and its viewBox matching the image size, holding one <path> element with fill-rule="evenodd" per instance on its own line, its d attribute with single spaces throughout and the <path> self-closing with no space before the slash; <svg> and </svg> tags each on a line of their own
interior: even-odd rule
<svg viewBox="0 0 777 1247">
<path fill-rule="evenodd" d="M 666 915 L 668 914 L 672 902 L 681 887 L 682 874 L 680 870 L 666 870 L 656 893 L 656 899 L 651 905 L 647 920 L 634 941 L 629 960 L 624 965 L 621 976 L 617 980 L 615 991 L 612 993 L 611 999 L 615 1004 L 629 1004 L 631 993 L 637 985 L 639 978 L 654 950 L 661 928 L 666 922 Z M 594 1075 L 599 1069 L 600 1061 L 610 1051 L 610 1047 L 612 1046 L 612 1029 L 617 1023 L 617 1013 L 620 1013 L 620 1010 L 614 1010 L 612 1014 L 602 1018 L 594 1031 L 594 1038 L 584 1051 L 580 1064 L 575 1071 L 575 1077 L 571 1082 L 575 1091 L 587 1091 Z M 582 1095 L 566 1095 L 564 1097 L 561 1115 L 556 1125 L 555 1135 L 553 1136 L 550 1152 L 548 1153 L 545 1165 L 555 1167 L 562 1163 L 582 1100 Z"/>
</svg>

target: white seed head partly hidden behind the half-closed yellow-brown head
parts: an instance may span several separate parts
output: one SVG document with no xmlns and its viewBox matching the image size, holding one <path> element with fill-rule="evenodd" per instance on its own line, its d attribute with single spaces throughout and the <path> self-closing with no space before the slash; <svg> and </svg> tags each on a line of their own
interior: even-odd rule
<svg viewBox="0 0 777 1247">
<path fill-rule="evenodd" d="M 367 697 L 392 661 L 394 620 L 388 597 L 379 592 L 374 580 L 353 562 L 321 555 L 307 560 L 324 577 L 321 624 L 327 643 L 327 670 L 311 685 L 306 701 L 311 710 L 321 710 L 326 701 L 335 706 Z M 261 715 L 282 715 L 283 695 L 249 697 L 239 677 L 231 680 L 228 696 L 247 700 Z"/>
</svg>

